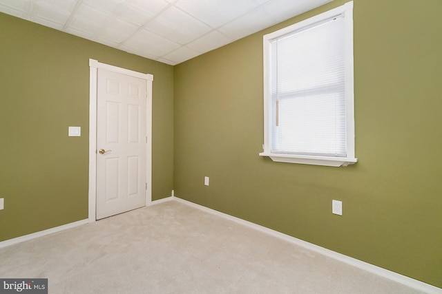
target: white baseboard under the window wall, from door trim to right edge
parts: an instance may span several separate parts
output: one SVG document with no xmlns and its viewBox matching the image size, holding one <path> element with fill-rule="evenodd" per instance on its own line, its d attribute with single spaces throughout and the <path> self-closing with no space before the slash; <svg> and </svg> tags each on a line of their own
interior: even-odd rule
<svg viewBox="0 0 442 294">
<path fill-rule="evenodd" d="M 434 294 L 441 294 L 442 293 L 442 288 L 438 288 L 436 286 L 426 284 L 426 283 L 421 282 L 419 280 L 414 280 L 411 277 L 407 277 L 405 275 L 395 273 L 394 271 L 389 271 L 387 269 L 383 269 L 379 266 L 375 266 L 373 264 L 363 262 L 362 260 L 356 260 L 356 258 L 350 258 L 347 255 L 343 255 L 343 254 L 337 253 L 335 251 L 325 249 L 324 247 L 321 247 L 321 246 L 318 246 L 318 245 L 315 245 L 315 244 L 312 244 L 309 242 L 305 242 L 305 241 L 300 240 L 298 238 L 294 238 L 291 235 L 286 235 L 284 233 L 280 233 L 278 231 L 274 231 L 272 229 L 262 227 L 259 224 L 255 224 L 255 223 L 249 222 L 247 220 L 242 220 L 240 218 L 236 218 L 235 216 L 230 216 L 227 213 L 222 213 L 220 211 L 209 209 L 208 207 L 204 207 L 200 204 L 196 204 L 196 203 L 184 200 L 182 198 L 177 198 L 176 196 L 164 198 L 161 200 L 164 200 L 162 202 L 175 200 L 177 202 L 187 204 L 191 207 L 195 207 L 196 209 L 200 209 L 202 211 L 212 213 L 216 216 L 220 216 L 222 218 L 227 218 L 228 220 L 233 220 L 233 222 L 237 222 L 238 224 L 242 224 L 246 227 L 250 227 L 251 229 L 256 229 L 258 231 L 261 231 L 262 233 L 267 233 L 269 235 L 273 235 L 276 238 L 286 240 L 288 242 L 291 242 L 291 243 L 296 244 L 298 246 L 302 246 L 302 247 L 309 249 L 311 251 L 315 251 L 316 253 L 320 253 L 322 255 L 325 255 L 329 258 L 333 258 L 335 260 L 339 260 L 340 262 L 344 262 L 346 264 L 356 266 L 358 269 L 363 269 L 364 271 L 368 271 L 369 273 L 374 273 L 376 275 L 380 275 L 381 277 L 385 277 L 389 280 L 393 280 L 394 282 L 398 282 L 398 283 L 403 284 L 405 286 L 409 286 L 410 288 L 415 288 L 416 290 L 423 291 L 425 293 L 431 293 L 431 294 L 433 294 L 433 293 Z"/>
</svg>

